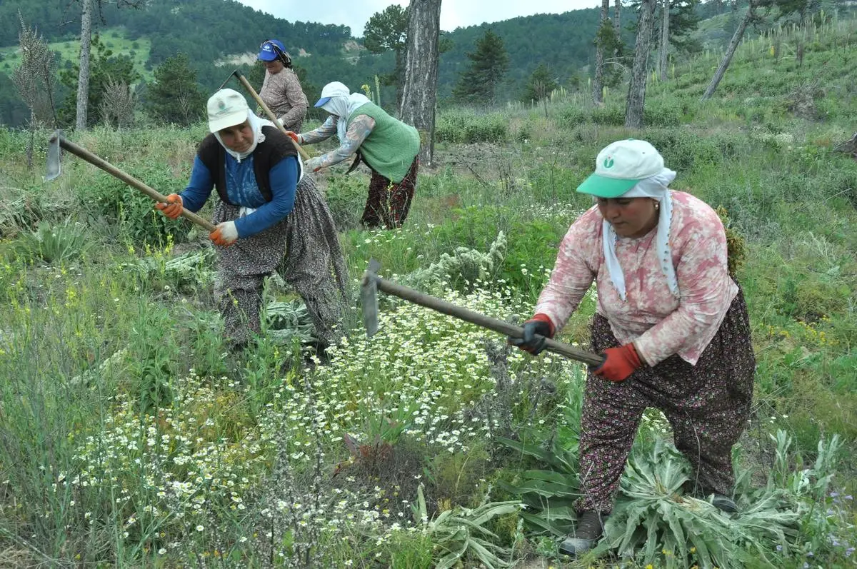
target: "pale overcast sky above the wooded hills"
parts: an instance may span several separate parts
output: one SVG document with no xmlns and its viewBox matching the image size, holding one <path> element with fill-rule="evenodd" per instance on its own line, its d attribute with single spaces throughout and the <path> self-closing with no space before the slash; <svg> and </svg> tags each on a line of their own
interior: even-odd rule
<svg viewBox="0 0 857 569">
<path fill-rule="evenodd" d="M 375 12 L 408 0 L 239 0 L 252 8 L 288 21 L 317 21 L 351 27 L 351 35 L 363 35 L 363 26 Z M 600 6 L 598 0 L 443 0 L 440 29 L 476 26 L 482 22 L 508 20 L 519 15 L 561 14 L 573 9 Z"/>
</svg>

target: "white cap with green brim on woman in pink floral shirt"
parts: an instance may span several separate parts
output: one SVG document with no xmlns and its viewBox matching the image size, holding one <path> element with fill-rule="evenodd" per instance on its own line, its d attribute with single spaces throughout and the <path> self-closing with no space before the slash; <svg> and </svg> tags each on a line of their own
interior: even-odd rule
<svg viewBox="0 0 857 569">
<path fill-rule="evenodd" d="M 646 141 L 615 141 L 598 153 L 595 173 L 578 186 L 580 194 L 618 198 L 640 180 L 660 174 L 663 157 Z"/>
</svg>

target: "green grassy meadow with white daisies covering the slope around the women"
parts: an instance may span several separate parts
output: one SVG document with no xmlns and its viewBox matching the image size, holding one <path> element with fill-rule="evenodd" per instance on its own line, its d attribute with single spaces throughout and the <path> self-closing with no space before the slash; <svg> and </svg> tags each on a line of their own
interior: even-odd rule
<svg viewBox="0 0 857 569">
<path fill-rule="evenodd" d="M 770 531 L 696 502 L 682 510 L 672 491 L 645 482 L 660 472 L 677 487 L 684 476 L 660 440 L 668 424 L 650 412 L 617 519 L 643 515 L 657 547 L 612 528 L 617 542 L 632 537 L 636 556 L 623 566 L 674 565 L 679 549 L 692 559 L 676 528 L 697 527 L 713 528 L 693 531 L 706 548 L 725 548 L 718 559 L 853 564 L 857 162 L 831 147 L 854 130 L 857 24 L 836 26 L 796 69 L 794 58 L 765 55 L 763 40 L 748 42 L 705 103 L 716 58 L 678 64 L 674 79 L 650 86 L 643 132 L 620 126 L 620 89 L 598 111 L 555 97 L 547 118 L 521 105 L 442 110 L 437 165 L 421 170 L 399 231 L 358 227 L 365 174 L 319 177 L 355 285 L 375 258 L 385 276 L 517 321 L 530 316 L 567 226 L 591 205 L 574 188 L 608 142 L 652 141 L 679 171 L 676 189 L 728 209 L 746 241 L 739 280 L 758 359 L 752 424 L 735 452 L 747 473 L 740 500 L 765 506 L 755 513 Z M 809 102 L 823 112 L 796 116 L 788 101 L 813 78 L 823 93 Z M 200 124 L 72 137 L 169 193 L 183 187 L 205 133 Z M 554 560 L 553 540 L 509 505 L 490 506 L 515 500 L 509 484 L 554 476 L 534 458 L 551 445 L 573 462 L 583 368 L 530 360 L 500 336 L 386 296 L 381 332 L 369 341 L 356 325 L 327 366 L 303 368 L 297 342 L 274 334 L 231 354 L 211 255 L 175 268 L 207 237 L 153 216 L 135 190 L 70 155 L 63 177 L 43 183 L 44 143 L 32 171 L 26 143 L 0 131 L 0 560 L 430 567 L 446 540 L 476 566 L 474 544 L 488 539 L 502 559 L 589 566 Z M 488 255 L 500 231 L 505 245 Z M 266 300 L 295 296 L 271 282 Z M 563 338 L 585 343 L 594 310 L 584 299 Z M 834 434 L 844 451 L 830 452 Z M 512 435 L 536 450 L 494 444 Z M 460 521 L 482 511 L 506 513 L 479 529 Z M 780 526 L 784 544 L 771 537 Z"/>
</svg>

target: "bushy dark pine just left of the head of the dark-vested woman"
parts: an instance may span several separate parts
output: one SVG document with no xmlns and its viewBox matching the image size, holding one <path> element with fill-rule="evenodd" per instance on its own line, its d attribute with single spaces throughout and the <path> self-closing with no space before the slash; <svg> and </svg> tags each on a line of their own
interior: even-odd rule
<svg viewBox="0 0 857 569">
<path fill-rule="evenodd" d="M 183 126 L 205 115 L 206 96 L 196 83 L 196 71 L 188 56 L 167 57 L 154 71 L 155 82 L 147 93 L 146 109 L 156 120 Z"/>
</svg>

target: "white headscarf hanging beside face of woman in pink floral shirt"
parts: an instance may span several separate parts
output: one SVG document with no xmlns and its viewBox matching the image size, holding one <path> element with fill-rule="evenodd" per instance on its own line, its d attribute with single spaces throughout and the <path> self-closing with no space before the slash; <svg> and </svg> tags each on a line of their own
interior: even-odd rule
<svg viewBox="0 0 857 569">
<path fill-rule="evenodd" d="M 659 204 L 659 217 L 657 220 L 657 260 L 661 264 L 663 276 L 667 278 L 669 290 L 674 296 L 679 296 L 679 282 L 675 278 L 675 267 L 673 267 L 673 253 L 669 249 L 669 224 L 673 219 L 673 199 L 670 197 L 669 184 L 675 179 L 675 172 L 664 168 L 655 176 L 640 180 L 637 185 L 629 189 L 620 198 L 651 198 Z M 602 221 L 602 236 L 604 244 L 604 261 L 607 262 L 610 281 L 613 283 L 619 296 L 625 300 L 625 274 L 616 258 L 616 240 L 619 238 L 613 225 L 607 219 Z"/>
</svg>

